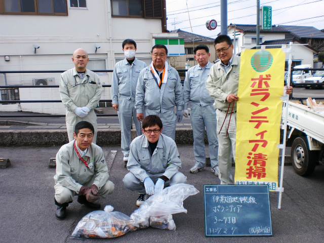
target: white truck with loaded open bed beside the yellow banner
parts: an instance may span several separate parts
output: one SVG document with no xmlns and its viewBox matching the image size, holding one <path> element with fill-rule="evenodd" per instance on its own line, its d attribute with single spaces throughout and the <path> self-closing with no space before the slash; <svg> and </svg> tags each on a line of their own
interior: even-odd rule
<svg viewBox="0 0 324 243">
<path fill-rule="evenodd" d="M 310 98 L 309 98 L 310 99 Z M 319 106 L 307 106 L 306 100 L 290 100 L 288 104 L 286 146 L 291 146 L 291 159 L 295 172 L 309 176 L 323 157 L 324 114 L 314 110 Z M 316 103 L 324 101 L 316 101 Z M 315 107 L 316 106 L 316 107 Z M 314 108 L 315 107 L 315 108 Z M 285 124 L 286 105 L 282 108 L 282 125 Z"/>
</svg>

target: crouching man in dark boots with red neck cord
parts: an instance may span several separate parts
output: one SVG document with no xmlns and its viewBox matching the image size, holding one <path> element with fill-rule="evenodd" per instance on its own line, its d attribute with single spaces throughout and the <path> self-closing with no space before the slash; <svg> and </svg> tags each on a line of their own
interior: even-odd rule
<svg viewBox="0 0 324 243">
<path fill-rule="evenodd" d="M 66 207 L 78 195 L 79 204 L 99 209 L 95 203 L 106 198 L 114 189 L 108 180 L 108 167 L 102 149 L 92 143 L 95 129 L 88 121 L 75 125 L 74 140 L 63 145 L 56 154 L 55 216 L 58 220 L 66 217 Z"/>
</svg>

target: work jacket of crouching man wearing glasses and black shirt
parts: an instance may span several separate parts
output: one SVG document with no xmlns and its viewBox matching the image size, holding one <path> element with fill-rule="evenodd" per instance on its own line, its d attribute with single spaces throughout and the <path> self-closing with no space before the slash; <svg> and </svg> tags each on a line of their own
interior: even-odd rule
<svg viewBox="0 0 324 243">
<path fill-rule="evenodd" d="M 181 168 L 177 145 L 172 138 L 160 134 L 151 156 L 145 134 L 135 138 L 130 146 L 127 169 L 142 182 L 150 175 L 160 174 L 171 179 Z"/>
</svg>

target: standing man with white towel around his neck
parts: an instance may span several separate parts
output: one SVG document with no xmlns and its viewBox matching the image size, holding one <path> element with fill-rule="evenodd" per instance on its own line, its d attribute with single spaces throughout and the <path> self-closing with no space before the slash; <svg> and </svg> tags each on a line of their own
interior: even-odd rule
<svg viewBox="0 0 324 243">
<path fill-rule="evenodd" d="M 165 45 L 153 46 L 152 63 L 141 71 L 138 78 L 135 106 L 139 121 L 144 118 L 144 113 L 158 115 L 164 125 L 163 134 L 174 140 L 176 121 L 180 123 L 182 120 L 183 89 L 179 73 L 166 62 L 167 54 Z"/>
</svg>

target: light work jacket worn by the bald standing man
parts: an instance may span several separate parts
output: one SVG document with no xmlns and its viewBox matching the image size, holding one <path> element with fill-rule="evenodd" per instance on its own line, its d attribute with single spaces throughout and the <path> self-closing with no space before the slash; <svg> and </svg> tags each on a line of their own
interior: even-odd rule
<svg viewBox="0 0 324 243">
<path fill-rule="evenodd" d="M 99 77 L 93 71 L 86 69 L 83 79 L 79 77 L 75 67 L 63 72 L 60 79 L 60 95 L 62 103 L 66 107 L 66 123 L 75 125 L 79 121 L 87 120 L 91 124 L 95 124 L 97 116 L 94 108 L 99 103 L 101 92 L 102 86 Z M 87 106 L 90 112 L 81 118 L 74 113 L 74 110 L 84 106 Z"/>
</svg>

